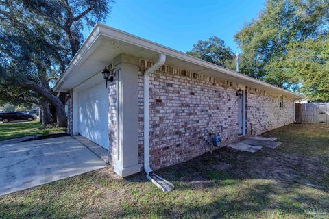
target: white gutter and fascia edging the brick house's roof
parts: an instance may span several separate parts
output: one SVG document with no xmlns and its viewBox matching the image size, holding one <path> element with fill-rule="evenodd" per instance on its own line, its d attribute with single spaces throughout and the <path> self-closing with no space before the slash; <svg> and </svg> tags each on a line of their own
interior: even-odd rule
<svg viewBox="0 0 329 219">
<path fill-rule="evenodd" d="M 295 97 L 295 99 L 303 98 L 303 96 L 300 95 L 300 94 L 295 94 L 294 92 L 291 92 L 289 90 L 285 90 L 283 88 L 273 86 L 270 83 L 266 83 L 264 81 L 259 81 L 258 79 L 254 79 L 253 77 L 249 77 L 247 75 L 237 73 L 234 70 L 230 70 L 228 68 L 223 68 L 223 67 L 218 66 L 216 64 L 206 62 L 206 61 L 204 61 L 202 59 L 199 59 L 197 57 L 193 57 L 191 55 L 187 55 L 186 53 L 182 53 L 181 51 L 177 51 L 177 50 L 171 49 L 169 47 L 164 47 L 161 44 L 158 44 L 156 42 L 151 42 L 149 40 L 145 40 L 145 39 L 140 38 L 138 36 L 134 36 L 132 34 L 129 34 L 125 31 L 121 31 L 119 29 L 108 27 L 108 26 L 100 24 L 100 23 L 97 23 L 93 27 L 92 31 L 90 31 L 90 34 L 88 35 L 88 37 L 86 38 L 86 40 L 84 41 L 84 43 L 82 44 L 80 49 L 77 51 L 77 53 L 75 54 L 73 59 L 71 60 L 68 68 L 66 68 L 66 70 L 64 71 L 64 74 L 56 82 L 56 85 L 53 87 L 54 91 L 61 90 L 60 89 L 61 84 L 65 81 L 67 75 L 69 75 L 72 72 L 75 64 L 77 64 L 78 62 L 81 62 L 82 60 L 84 60 L 86 58 L 85 57 L 87 55 L 86 53 L 88 53 L 88 50 L 90 49 L 90 47 L 92 47 L 93 44 L 95 44 L 95 42 L 97 41 L 97 39 L 100 38 L 101 36 L 112 38 L 114 40 L 119 40 L 119 41 L 125 42 L 127 44 L 132 44 L 132 45 L 135 45 L 137 47 L 141 47 L 141 48 L 144 48 L 144 49 L 147 49 L 147 50 L 150 50 L 150 51 L 154 51 L 154 52 L 159 53 L 159 54 L 162 53 L 164 55 L 169 55 L 169 56 L 174 57 L 178 60 L 182 60 L 182 61 L 185 61 L 185 62 L 190 62 L 190 63 L 193 63 L 193 64 L 197 64 L 199 66 L 203 66 L 204 68 L 219 71 L 219 72 L 221 72 L 225 75 L 229 75 L 229 76 L 232 76 L 232 77 L 243 79 L 245 81 L 256 83 L 260 86 L 265 86 L 267 88 L 271 88 L 271 90 L 276 90 L 280 93 L 283 92 L 284 94 L 287 94 L 289 96 L 293 96 L 293 97 Z"/>
</svg>

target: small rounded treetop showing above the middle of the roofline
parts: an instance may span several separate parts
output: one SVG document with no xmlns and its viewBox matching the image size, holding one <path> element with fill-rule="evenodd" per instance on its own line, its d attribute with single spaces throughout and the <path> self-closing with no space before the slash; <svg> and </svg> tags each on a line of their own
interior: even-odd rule
<svg viewBox="0 0 329 219">
<path fill-rule="evenodd" d="M 206 41 L 199 40 L 187 54 L 223 67 L 232 67 L 234 59 L 230 47 L 226 47 L 224 41 L 217 36 L 212 36 Z"/>
</svg>

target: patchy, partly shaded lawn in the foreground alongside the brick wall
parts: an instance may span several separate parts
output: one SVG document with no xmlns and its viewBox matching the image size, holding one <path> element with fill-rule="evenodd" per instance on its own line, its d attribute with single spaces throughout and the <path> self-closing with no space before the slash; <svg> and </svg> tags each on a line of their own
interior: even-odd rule
<svg viewBox="0 0 329 219">
<path fill-rule="evenodd" d="M 277 149 L 222 148 L 145 175 L 120 179 L 108 167 L 0 197 L 0 218 L 329 218 L 329 126 L 269 131 Z"/>
</svg>

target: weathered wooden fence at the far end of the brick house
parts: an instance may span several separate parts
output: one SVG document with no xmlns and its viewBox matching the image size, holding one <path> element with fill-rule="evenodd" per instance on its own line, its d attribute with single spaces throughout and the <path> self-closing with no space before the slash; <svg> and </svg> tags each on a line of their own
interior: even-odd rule
<svg viewBox="0 0 329 219">
<path fill-rule="evenodd" d="M 329 103 L 295 103 L 297 123 L 329 124 Z"/>
</svg>

